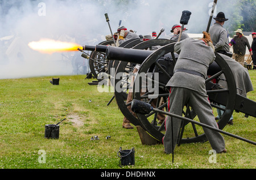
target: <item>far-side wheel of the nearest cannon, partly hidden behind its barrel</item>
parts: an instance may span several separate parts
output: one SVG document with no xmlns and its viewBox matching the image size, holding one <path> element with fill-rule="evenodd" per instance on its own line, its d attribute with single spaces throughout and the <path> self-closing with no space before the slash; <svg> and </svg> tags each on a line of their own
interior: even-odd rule
<svg viewBox="0 0 256 180">
<path fill-rule="evenodd" d="M 133 49 L 147 49 L 151 48 L 152 46 L 164 46 L 167 44 L 170 44 L 174 41 L 166 40 L 166 39 L 156 39 L 156 40 L 148 40 L 141 42 L 138 45 L 135 45 Z M 118 67 L 115 72 L 115 99 L 117 100 L 117 104 L 119 109 L 121 110 L 122 114 L 134 125 L 139 126 L 141 125 L 138 121 L 137 117 L 131 113 L 129 110 L 129 106 L 131 105 L 131 102 L 127 102 L 127 95 L 129 93 L 129 90 L 133 88 L 133 85 L 131 85 L 131 79 L 132 76 L 135 76 L 132 71 L 135 65 L 131 64 L 130 62 L 118 62 Z M 122 88 L 122 92 L 117 91 L 118 89 Z M 143 97 L 145 101 L 151 103 L 153 100 L 156 102 L 155 99 L 148 99 L 146 98 L 148 93 L 145 93 Z M 166 93 L 166 96 L 168 96 L 168 93 Z M 163 98 L 165 99 L 165 98 Z M 166 102 L 165 102 L 166 103 Z M 157 103 L 156 103 L 157 104 Z"/>
</svg>

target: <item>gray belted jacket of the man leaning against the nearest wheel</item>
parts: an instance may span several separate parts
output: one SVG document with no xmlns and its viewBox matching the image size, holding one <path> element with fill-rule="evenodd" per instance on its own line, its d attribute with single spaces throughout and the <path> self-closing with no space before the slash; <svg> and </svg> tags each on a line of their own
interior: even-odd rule
<svg viewBox="0 0 256 180">
<path fill-rule="evenodd" d="M 215 55 L 213 49 L 207 46 L 203 40 L 186 38 L 177 42 L 174 50 L 179 54 L 174 71 L 186 69 L 200 72 L 205 78 L 207 77 L 208 67 L 214 61 Z M 166 86 L 188 88 L 206 95 L 205 79 L 187 72 L 175 72 Z"/>
</svg>

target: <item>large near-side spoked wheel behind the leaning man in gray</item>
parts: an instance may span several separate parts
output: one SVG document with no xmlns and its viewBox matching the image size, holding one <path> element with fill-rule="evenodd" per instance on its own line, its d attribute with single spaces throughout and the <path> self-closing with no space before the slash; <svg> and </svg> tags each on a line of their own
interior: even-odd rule
<svg viewBox="0 0 256 180">
<path fill-rule="evenodd" d="M 134 83 L 135 84 L 141 83 L 138 78 L 139 74 L 143 74 L 143 73 L 146 74 L 150 70 L 150 68 L 152 68 L 152 66 L 157 66 L 155 64 L 156 59 L 159 59 L 160 57 L 162 57 L 167 53 L 171 53 L 171 54 L 174 53 L 174 45 L 175 43 L 168 44 L 163 48 L 156 50 L 156 52 L 148 56 L 147 59 L 142 63 L 141 68 L 139 68 L 138 74 L 137 76 L 135 76 Z M 228 64 L 219 54 L 217 53 L 215 54 L 216 54 L 216 59 L 214 63 L 217 63 L 217 66 L 219 69 L 214 73 L 211 73 L 210 78 L 206 79 L 205 83 L 207 83 L 207 87 L 210 87 L 209 89 L 207 89 L 207 94 L 209 96 L 209 101 L 211 102 L 212 107 L 218 108 L 224 111 L 222 118 L 217 122 L 218 127 L 222 129 L 225 127 L 226 123 L 228 123 L 229 118 L 231 117 L 234 110 L 234 104 L 236 102 L 236 83 L 234 81 L 232 71 L 230 70 Z M 228 88 L 220 88 L 218 87 L 217 84 L 212 83 L 212 80 L 217 79 L 218 76 L 220 76 L 221 74 L 225 75 Z M 158 83 L 158 82 L 155 81 L 154 83 Z M 160 83 L 159 83 L 159 87 L 164 89 L 164 86 L 162 86 Z M 169 93 L 169 92 L 166 91 L 164 93 Z M 141 93 L 139 93 L 138 91 L 135 91 L 135 89 L 134 89 L 133 95 L 134 95 L 133 98 L 137 100 L 142 99 Z M 162 95 L 159 93 L 158 99 L 160 97 L 162 97 Z M 164 96 L 164 97 L 167 98 L 167 96 Z M 219 106 L 215 105 L 216 103 L 224 105 L 225 108 L 220 108 Z M 160 105 L 158 106 L 161 109 L 163 108 Z M 157 113 L 151 112 L 150 114 L 157 114 Z M 156 140 L 158 140 L 159 142 L 162 142 L 162 139 L 165 133 L 164 123 L 161 126 L 156 126 L 155 123 L 151 123 L 151 119 L 148 119 L 148 115 L 150 114 L 147 114 L 147 115 L 137 114 L 137 117 L 139 119 L 139 122 L 141 122 L 143 128 Z M 198 121 L 197 115 L 193 112 L 193 109 L 191 109 L 191 107 L 189 106 L 183 109 L 183 116 L 189 119 Z M 153 121 L 155 121 L 155 119 L 153 119 Z M 178 139 L 179 144 L 205 142 L 205 141 L 207 141 L 207 138 L 203 132 L 203 128 L 193 123 L 188 123 L 183 121 L 180 128 L 180 135 Z"/>
</svg>

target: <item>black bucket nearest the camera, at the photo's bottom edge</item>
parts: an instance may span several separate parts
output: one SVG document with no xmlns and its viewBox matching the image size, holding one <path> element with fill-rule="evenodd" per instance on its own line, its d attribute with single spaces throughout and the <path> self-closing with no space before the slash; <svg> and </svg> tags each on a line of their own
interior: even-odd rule
<svg viewBox="0 0 256 180">
<path fill-rule="evenodd" d="M 120 147 L 117 153 L 117 156 L 120 157 L 119 166 L 134 165 L 135 164 L 134 154 L 135 154 L 134 148 L 129 150 L 122 150 L 122 147 Z"/>
</svg>

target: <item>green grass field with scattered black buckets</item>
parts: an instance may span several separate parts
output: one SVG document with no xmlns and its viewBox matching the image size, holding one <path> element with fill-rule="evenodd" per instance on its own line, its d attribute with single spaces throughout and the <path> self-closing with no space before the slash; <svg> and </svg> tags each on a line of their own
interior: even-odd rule
<svg viewBox="0 0 256 180">
<path fill-rule="evenodd" d="M 256 71 L 249 72 L 256 89 Z M 120 169 L 119 147 L 135 149 L 135 165 L 122 169 L 256 168 L 255 145 L 227 135 L 228 152 L 217 154 L 216 163 L 209 161 L 211 147 L 205 142 L 181 144 L 172 164 L 162 144 L 143 145 L 136 128 L 122 128 L 117 103 L 106 106 L 113 92 L 98 92 L 84 75 L 59 78 L 60 85 L 49 83 L 52 77 L 0 80 L 0 168 Z M 256 91 L 247 97 L 256 101 Z M 234 125 L 224 130 L 255 141 L 255 118 L 233 115 Z M 59 139 L 44 138 L 44 126 L 64 118 Z M 94 135 L 100 139 L 90 140 Z"/>
</svg>

